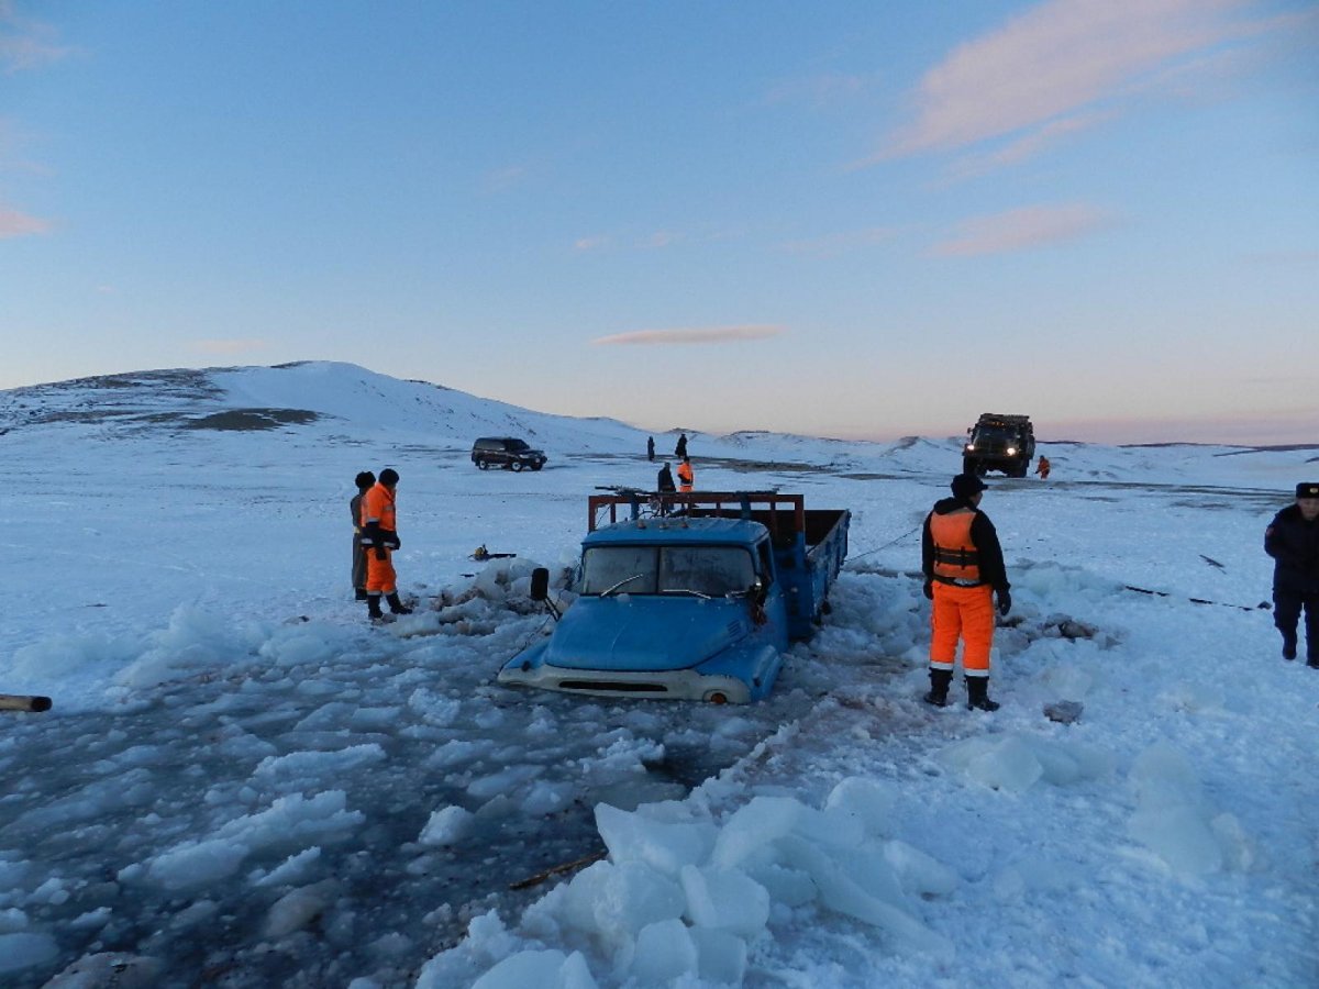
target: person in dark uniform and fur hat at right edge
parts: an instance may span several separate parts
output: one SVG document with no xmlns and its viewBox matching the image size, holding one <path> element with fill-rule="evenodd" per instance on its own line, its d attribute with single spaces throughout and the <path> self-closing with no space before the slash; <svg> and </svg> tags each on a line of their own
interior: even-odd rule
<svg viewBox="0 0 1319 989">
<path fill-rule="evenodd" d="M 1273 624 L 1282 633 L 1282 658 L 1297 658 L 1297 624 L 1306 613 L 1306 666 L 1319 669 L 1319 481 L 1297 485 L 1297 504 L 1264 530 L 1273 556 Z"/>
</svg>

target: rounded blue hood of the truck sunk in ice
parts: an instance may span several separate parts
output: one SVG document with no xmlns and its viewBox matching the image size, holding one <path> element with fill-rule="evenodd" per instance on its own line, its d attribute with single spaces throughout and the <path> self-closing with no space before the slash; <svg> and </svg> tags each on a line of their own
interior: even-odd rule
<svg viewBox="0 0 1319 989">
<path fill-rule="evenodd" d="M 685 670 L 751 628 L 744 601 L 579 597 L 554 629 L 545 661 L 570 670 Z"/>
</svg>

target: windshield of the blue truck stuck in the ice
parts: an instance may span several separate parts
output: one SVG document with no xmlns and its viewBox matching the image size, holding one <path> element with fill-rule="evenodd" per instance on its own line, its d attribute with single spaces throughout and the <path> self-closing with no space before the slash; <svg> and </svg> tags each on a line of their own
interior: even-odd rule
<svg viewBox="0 0 1319 989">
<path fill-rule="evenodd" d="M 756 580 L 740 546 L 595 546 L 582 558 L 582 593 L 681 593 L 723 597 Z"/>
</svg>

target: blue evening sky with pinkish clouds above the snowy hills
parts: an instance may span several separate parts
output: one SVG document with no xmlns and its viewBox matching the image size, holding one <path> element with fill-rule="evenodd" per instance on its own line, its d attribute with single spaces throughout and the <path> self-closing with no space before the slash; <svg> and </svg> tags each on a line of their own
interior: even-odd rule
<svg viewBox="0 0 1319 989">
<path fill-rule="evenodd" d="M 1315 442 L 1319 7 L 0 0 L 0 388 Z"/>
</svg>

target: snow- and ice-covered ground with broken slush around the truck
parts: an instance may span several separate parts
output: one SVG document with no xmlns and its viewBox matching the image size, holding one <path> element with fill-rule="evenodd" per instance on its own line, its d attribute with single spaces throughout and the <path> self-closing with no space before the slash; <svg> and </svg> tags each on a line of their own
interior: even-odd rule
<svg viewBox="0 0 1319 989">
<path fill-rule="evenodd" d="M 985 715 L 919 702 L 956 438 L 687 430 L 698 488 L 853 513 L 823 629 L 716 708 L 493 683 L 586 496 L 653 483 L 621 423 L 303 364 L 0 392 L 0 691 L 54 699 L 0 715 L 5 986 L 1319 984 L 1319 673 L 1256 607 L 1319 450 L 992 477 Z M 547 467 L 476 471 L 500 434 Z M 369 628 L 347 501 L 385 465 L 423 607 Z"/>
</svg>

